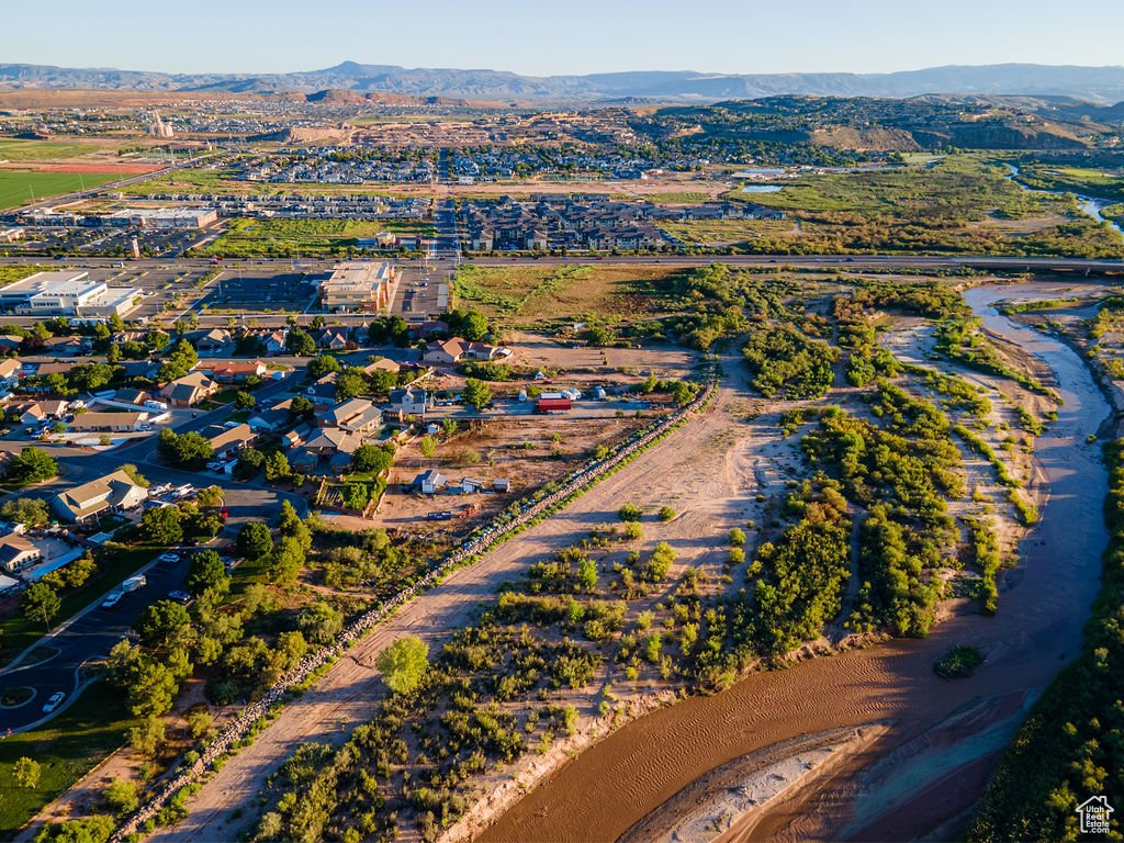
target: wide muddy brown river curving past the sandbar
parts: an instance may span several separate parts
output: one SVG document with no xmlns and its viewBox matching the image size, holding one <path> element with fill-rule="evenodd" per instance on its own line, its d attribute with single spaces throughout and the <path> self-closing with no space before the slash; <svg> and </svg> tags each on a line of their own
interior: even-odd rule
<svg viewBox="0 0 1124 843">
<path fill-rule="evenodd" d="M 771 807 L 744 839 L 943 837 L 979 797 L 997 753 L 1057 672 L 1077 654 L 1096 597 L 1106 473 L 1086 444 L 1109 408 L 1067 345 L 992 308 L 1032 284 L 981 287 L 966 298 L 986 326 L 1055 373 L 1064 406 L 1037 439 L 1049 483 L 1042 520 L 995 617 L 973 607 L 930 637 L 892 641 L 751 676 L 628 724 L 574 758 L 489 828 L 489 843 L 613 841 L 710 770 L 783 741 L 873 722 L 890 728 L 831 778 Z M 976 644 L 985 664 L 945 681 L 933 663 Z M 954 833 L 954 832 L 952 832 Z M 738 839 L 738 834 L 724 839 Z"/>
</svg>

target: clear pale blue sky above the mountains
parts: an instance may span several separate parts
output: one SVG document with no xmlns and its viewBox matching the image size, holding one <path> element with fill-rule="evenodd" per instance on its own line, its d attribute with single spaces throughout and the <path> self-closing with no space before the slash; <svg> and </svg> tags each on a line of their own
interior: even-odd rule
<svg viewBox="0 0 1124 843">
<path fill-rule="evenodd" d="M 527 75 L 1124 64 L 1122 0 L 51 0 L 4 6 L 3 27 L 17 37 L 4 39 L 0 64 L 281 73 L 355 61 Z"/>
</svg>

